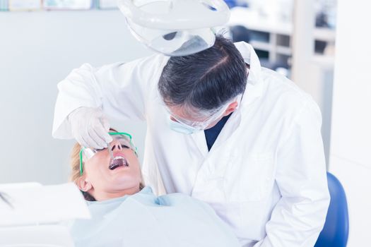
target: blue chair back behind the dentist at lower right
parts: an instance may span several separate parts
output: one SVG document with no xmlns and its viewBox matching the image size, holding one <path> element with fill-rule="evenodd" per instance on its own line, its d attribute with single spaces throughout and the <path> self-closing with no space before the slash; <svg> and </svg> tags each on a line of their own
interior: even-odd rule
<svg viewBox="0 0 371 247">
<path fill-rule="evenodd" d="M 326 222 L 314 247 L 346 247 L 349 233 L 348 204 L 340 181 L 327 172 L 330 205 Z"/>
</svg>

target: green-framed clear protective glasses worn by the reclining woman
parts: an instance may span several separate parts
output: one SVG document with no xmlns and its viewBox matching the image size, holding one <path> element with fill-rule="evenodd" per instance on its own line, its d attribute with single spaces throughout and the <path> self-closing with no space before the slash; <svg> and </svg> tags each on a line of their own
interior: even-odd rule
<svg viewBox="0 0 371 247">
<path fill-rule="evenodd" d="M 119 140 L 119 143 L 124 147 L 129 147 L 131 150 L 135 152 L 135 155 L 138 156 L 136 146 L 133 143 L 133 140 L 131 138 L 131 135 L 129 133 L 124 132 L 109 132 L 110 135 L 112 135 L 112 138 L 114 140 Z M 87 160 L 91 159 L 96 153 L 105 150 L 103 149 L 95 149 L 92 147 L 81 147 L 80 150 L 80 176 L 83 174 L 83 158 Z"/>
</svg>

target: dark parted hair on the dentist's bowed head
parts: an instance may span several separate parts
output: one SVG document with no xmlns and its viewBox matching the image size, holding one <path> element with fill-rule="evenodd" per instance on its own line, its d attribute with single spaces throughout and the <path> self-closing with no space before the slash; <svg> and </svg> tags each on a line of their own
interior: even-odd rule
<svg viewBox="0 0 371 247">
<path fill-rule="evenodd" d="M 166 104 L 213 110 L 244 92 L 247 67 L 232 41 L 216 36 L 202 52 L 172 56 L 163 68 L 158 90 Z"/>
</svg>

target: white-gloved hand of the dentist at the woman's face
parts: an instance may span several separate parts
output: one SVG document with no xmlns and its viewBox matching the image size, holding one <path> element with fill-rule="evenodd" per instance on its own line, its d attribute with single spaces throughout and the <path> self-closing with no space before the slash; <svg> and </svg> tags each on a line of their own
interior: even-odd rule
<svg viewBox="0 0 371 247">
<path fill-rule="evenodd" d="M 71 133 L 80 145 L 102 149 L 112 142 L 110 123 L 100 108 L 80 107 L 67 117 Z"/>
</svg>

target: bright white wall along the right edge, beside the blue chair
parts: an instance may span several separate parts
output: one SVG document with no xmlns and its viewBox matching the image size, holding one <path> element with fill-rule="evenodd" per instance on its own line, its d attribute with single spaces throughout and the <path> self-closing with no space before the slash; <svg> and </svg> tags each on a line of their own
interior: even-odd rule
<svg viewBox="0 0 371 247">
<path fill-rule="evenodd" d="M 329 170 L 348 199 L 348 246 L 370 246 L 370 1 L 338 1 Z"/>
</svg>

